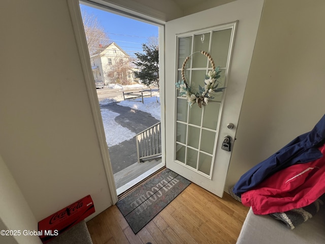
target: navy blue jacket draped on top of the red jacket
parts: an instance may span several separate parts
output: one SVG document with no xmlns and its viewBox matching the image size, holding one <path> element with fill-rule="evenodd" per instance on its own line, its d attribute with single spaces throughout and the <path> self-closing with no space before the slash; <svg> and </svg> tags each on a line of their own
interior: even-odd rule
<svg viewBox="0 0 325 244">
<path fill-rule="evenodd" d="M 234 186 L 233 192 L 240 196 L 281 169 L 321 158 L 323 155 L 317 148 L 323 145 L 324 142 L 325 115 L 322 116 L 310 132 L 298 136 L 274 155 L 243 174 Z"/>
</svg>

